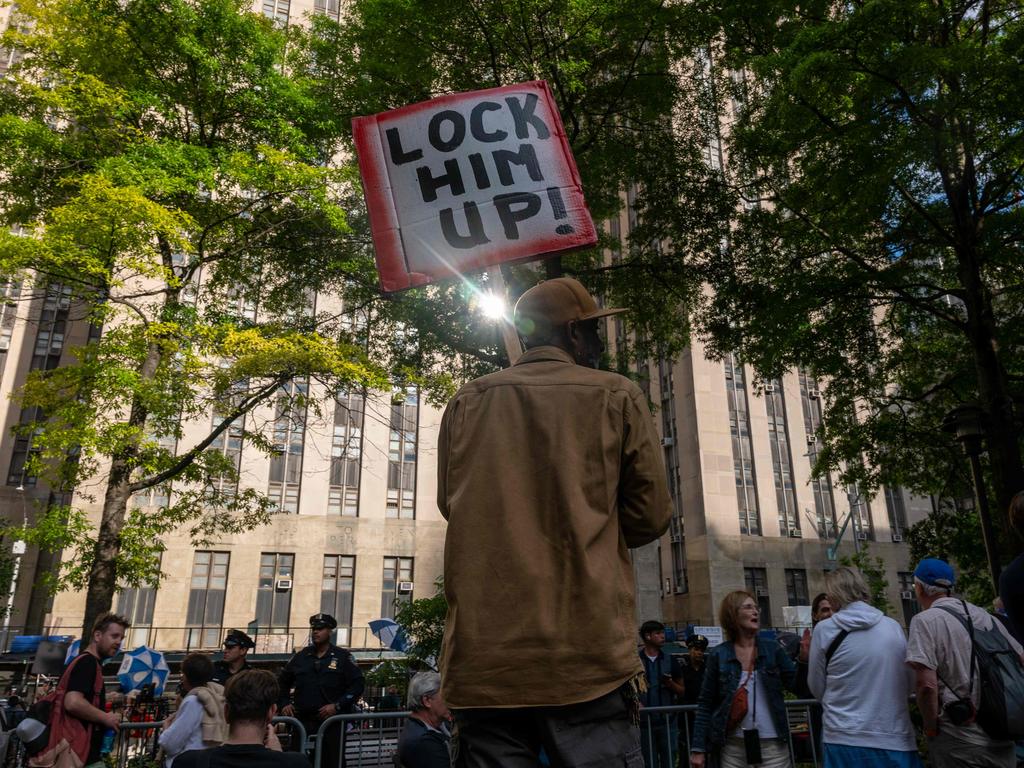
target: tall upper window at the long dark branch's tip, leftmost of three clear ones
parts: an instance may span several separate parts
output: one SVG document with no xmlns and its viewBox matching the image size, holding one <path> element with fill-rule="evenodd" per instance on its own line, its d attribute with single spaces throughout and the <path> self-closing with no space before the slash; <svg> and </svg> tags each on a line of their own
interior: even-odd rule
<svg viewBox="0 0 1024 768">
<path fill-rule="evenodd" d="M 278 390 L 274 404 L 273 449 L 267 496 L 279 512 L 299 511 L 302 445 L 306 433 L 306 398 L 309 383 L 292 379 Z"/>
</svg>

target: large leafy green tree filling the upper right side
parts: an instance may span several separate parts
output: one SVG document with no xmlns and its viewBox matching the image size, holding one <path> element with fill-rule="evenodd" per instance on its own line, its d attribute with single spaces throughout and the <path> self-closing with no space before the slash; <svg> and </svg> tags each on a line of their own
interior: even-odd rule
<svg viewBox="0 0 1024 768">
<path fill-rule="evenodd" d="M 701 330 L 765 378 L 820 377 L 818 469 L 865 488 L 970 488 L 943 416 L 986 415 L 1004 553 L 1024 487 L 1024 20 L 1015 2 L 693 6 L 734 111 L 724 176 L 744 202 L 695 254 Z"/>
</svg>

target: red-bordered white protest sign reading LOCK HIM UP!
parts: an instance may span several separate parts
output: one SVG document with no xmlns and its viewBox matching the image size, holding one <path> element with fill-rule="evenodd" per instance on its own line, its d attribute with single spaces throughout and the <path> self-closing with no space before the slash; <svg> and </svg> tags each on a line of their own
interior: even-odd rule
<svg viewBox="0 0 1024 768">
<path fill-rule="evenodd" d="M 384 291 L 597 243 L 544 81 L 352 123 Z"/>
</svg>

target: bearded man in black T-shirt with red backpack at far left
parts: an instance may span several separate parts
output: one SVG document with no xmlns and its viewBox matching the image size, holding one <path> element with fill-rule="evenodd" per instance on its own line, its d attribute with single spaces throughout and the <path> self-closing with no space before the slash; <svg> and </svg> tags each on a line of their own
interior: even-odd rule
<svg viewBox="0 0 1024 768">
<path fill-rule="evenodd" d="M 131 625 L 116 613 L 102 613 L 92 626 L 85 649 L 60 676 L 53 693 L 46 749 L 31 759 L 31 765 L 89 766 L 101 763 L 100 750 L 109 729 L 119 729 L 121 718 L 106 712 L 103 662 L 116 655 Z"/>
</svg>

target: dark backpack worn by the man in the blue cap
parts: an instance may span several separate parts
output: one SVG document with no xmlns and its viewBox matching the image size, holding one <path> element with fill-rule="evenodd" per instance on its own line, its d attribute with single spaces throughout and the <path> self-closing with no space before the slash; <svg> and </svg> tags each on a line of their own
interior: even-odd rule
<svg viewBox="0 0 1024 768">
<path fill-rule="evenodd" d="M 961 603 L 963 616 L 945 605 L 935 607 L 955 616 L 971 638 L 972 674 L 968 700 L 974 691 L 973 672 L 977 665 L 981 695 L 978 725 L 999 741 L 1024 738 L 1024 665 L 994 621 L 990 629 L 976 628 L 967 603 L 964 600 Z"/>
</svg>

